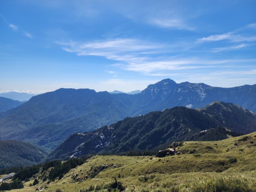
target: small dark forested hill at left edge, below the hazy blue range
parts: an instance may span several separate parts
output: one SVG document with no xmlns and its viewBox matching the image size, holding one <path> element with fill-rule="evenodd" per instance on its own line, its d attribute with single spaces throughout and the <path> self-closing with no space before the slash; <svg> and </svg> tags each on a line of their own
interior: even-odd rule
<svg viewBox="0 0 256 192">
<path fill-rule="evenodd" d="M 0 140 L 0 169 L 13 166 L 31 166 L 47 157 L 43 147 L 17 140 Z"/>
</svg>

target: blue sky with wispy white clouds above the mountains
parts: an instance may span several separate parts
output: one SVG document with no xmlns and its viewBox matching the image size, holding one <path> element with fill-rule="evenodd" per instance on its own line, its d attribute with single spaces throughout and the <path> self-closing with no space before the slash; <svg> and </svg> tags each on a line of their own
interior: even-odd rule
<svg viewBox="0 0 256 192">
<path fill-rule="evenodd" d="M 1 0 L 0 92 L 256 84 L 255 0 Z"/>
</svg>

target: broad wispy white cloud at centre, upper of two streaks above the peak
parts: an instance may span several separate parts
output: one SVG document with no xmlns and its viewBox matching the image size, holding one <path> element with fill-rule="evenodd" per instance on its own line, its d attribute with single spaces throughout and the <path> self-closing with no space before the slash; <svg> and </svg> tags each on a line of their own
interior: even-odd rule
<svg viewBox="0 0 256 192">
<path fill-rule="evenodd" d="M 68 52 L 82 55 L 102 56 L 115 61 L 142 62 L 147 60 L 147 51 L 155 51 L 163 48 L 160 44 L 152 44 L 131 38 L 119 38 L 90 43 L 56 42 L 62 49 Z"/>
</svg>

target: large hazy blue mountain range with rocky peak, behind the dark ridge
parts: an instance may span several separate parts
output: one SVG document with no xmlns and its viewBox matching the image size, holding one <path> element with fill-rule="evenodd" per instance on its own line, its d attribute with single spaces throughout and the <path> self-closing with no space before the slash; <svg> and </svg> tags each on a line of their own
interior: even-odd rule
<svg viewBox="0 0 256 192">
<path fill-rule="evenodd" d="M 18 139 L 53 149 L 73 133 L 93 131 L 128 116 L 175 106 L 202 108 L 214 101 L 232 102 L 255 112 L 256 84 L 222 88 L 164 79 L 134 95 L 62 88 L 34 96 L 2 113 L 0 139 Z"/>
</svg>

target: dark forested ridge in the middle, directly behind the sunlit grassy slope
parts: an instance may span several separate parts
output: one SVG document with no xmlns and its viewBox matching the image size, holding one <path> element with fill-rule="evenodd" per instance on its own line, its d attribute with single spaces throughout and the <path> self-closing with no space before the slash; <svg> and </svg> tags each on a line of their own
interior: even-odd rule
<svg viewBox="0 0 256 192">
<path fill-rule="evenodd" d="M 220 111 L 220 113 L 215 113 Z M 223 116 L 222 114 L 227 115 Z M 147 150 L 183 140 L 221 140 L 256 131 L 256 113 L 237 105 L 214 102 L 201 110 L 174 107 L 129 117 L 85 134 L 73 134 L 51 154 L 51 158 L 77 157 L 85 154 L 118 154 L 129 150 Z M 216 129 L 212 129 L 216 128 Z M 208 135 L 198 135 L 207 130 Z"/>
</svg>

